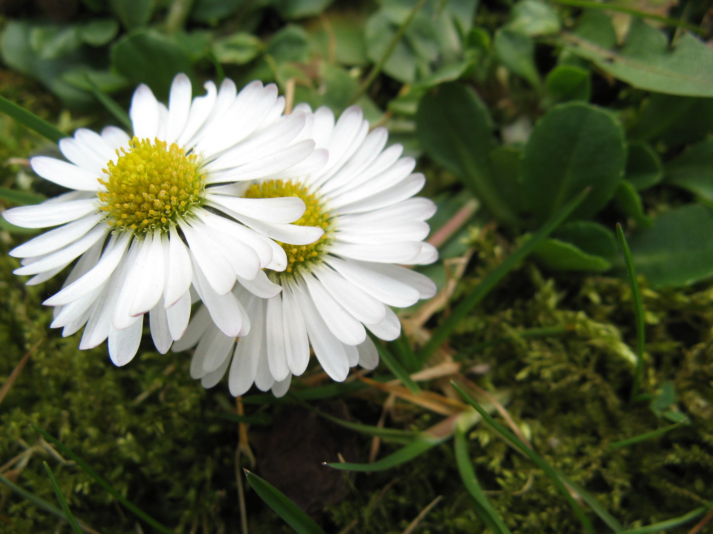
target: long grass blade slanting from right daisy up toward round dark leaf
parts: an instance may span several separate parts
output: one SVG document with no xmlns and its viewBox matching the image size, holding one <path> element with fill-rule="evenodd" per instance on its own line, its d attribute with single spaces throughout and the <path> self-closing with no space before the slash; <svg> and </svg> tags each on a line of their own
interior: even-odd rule
<svg viewBox="0 0 713 534">
<path fill-rule="evenodd" d="M 419 352 L 419 361 L 422 363 L 433 355 L 436 349 L 443 343 L 451 332 L 461 323 L 461 320 L 466 318 L 466 315 L 471 312 L 473 308 L 480 303 L 481 300 L 493 289 L 499 281 L 501 281 L 506 274 L 515 268 L 520 261 L 523 261 L 530 252 L 532 252 L 536 246 L 543 241 L 547 236 L 549 236 L 555 229 L 560 226 L 560 224 L 567 219 L 567 217 L 572 213 L 572 211 L 580 205 L 584 198 L 589 193 L 589 189 L 585 189 L 583 192 L 578 194 L 574 199 L 572 199 L 568 204 L 563 206 L 560 211 L 558 211 L 552 219 L 550 219 L 545 225 L 538 230 L 536 234 L 530 237 L 527 241 L 520 245 L 520 248 L 513 252 L 508 258 L 506 258 L 503 263 L 501 263 L 495 270 L 483 278 L 483 281 L 478 284 L 478 286 L 471 291 L 470 294 L 463 298 L 460 303 L 453 309 L 451 315 L 446 318 L 446 320 L 438 325 L 438 328 L 431 333 L 431 339 L 428 340 L 421 351 Z"/>
</svg>

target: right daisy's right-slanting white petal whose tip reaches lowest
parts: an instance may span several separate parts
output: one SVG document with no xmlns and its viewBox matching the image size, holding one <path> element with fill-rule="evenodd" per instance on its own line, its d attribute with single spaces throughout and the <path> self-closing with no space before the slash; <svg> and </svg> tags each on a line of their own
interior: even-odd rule
<svg viewBox="0 0 713 534">
<path fill-rule="evenodd" d="M 344 381 L 349 375 L 349 360 L 344 352 L 344 345 L 332 331 L 324 324 L 322 316 L 314 308 L 312 299 L 302 292 L 300 288 L 295 288 L 294 295 L 297 298 L 299 310 L 304 315 L 304 325 L 307 327 L 309 342 L 314 349 L 319 364 L 324 372 L 337 382 Z"/>
</svg>

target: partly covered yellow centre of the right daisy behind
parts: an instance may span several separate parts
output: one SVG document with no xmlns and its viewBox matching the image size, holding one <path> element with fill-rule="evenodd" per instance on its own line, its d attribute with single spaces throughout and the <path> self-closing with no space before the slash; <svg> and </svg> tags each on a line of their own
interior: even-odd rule
<svg viewBox="0 0 713 534">
<path fill-rule="evenodd" d="M 275 197 L 298 197 L 304 201 L 304 215 L 294 221 L 299 226 L 319 226 L 324 230 L 324 235 L 309 245 L 290 245 L 276 241 L 287 254 L 287 268 L 285 273 L 298 273 L 304 268 L 309 268 L 322 258 L 326 246 L 332 239 L 329 238 L 332 217 L 325 211 L 321 199 L 310 193 L 302 184 L 283 182 L 282 180 L 266 180 L 260 184 L 252 184 L 245 192 L 248 199 L 272 199 Z"/>
</svg>

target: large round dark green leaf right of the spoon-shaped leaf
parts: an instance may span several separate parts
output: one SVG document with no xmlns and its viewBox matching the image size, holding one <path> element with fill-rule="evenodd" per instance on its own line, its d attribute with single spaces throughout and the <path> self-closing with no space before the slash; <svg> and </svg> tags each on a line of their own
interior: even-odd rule
<svg viewBox="0 0 713 534">
<path fill-rule="evenodd" d="M 612 116 L 584 103 L 560 104 L 535 125 L 525 147 L 523 195 L 542 224 L 585 187 L 592 190 L 573 218 L 607 204 L 624 172 L 624 132 Z"/>
</svg>

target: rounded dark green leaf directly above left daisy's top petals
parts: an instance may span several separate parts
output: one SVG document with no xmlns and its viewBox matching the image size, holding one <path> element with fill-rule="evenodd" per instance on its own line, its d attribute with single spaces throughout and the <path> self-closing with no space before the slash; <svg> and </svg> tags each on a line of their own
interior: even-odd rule
<svg viewBox="0 0 713 534">
<path fill-rule="evenodd" d="M 111 47 L 111 63 L 131 83 L 145 83 L 159 99 L 168 97 L 173 78 L 193 78 L 188 54 L 172 39 L 152 30 L 135 30 Z"/>
</svg>

